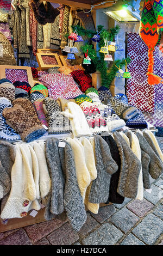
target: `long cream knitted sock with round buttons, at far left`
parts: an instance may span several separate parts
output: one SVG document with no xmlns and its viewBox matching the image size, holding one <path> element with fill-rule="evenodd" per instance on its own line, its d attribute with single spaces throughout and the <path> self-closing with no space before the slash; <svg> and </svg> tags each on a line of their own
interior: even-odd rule
<svg viewBox="0 0 163 256">
<path fill-rule="evenodd" d="M 26 154 L 27 144 L 15 145 L 15 162 L 11 171 L 11 191 L 1 218 L 27 216 L 30 204 L 36 199 L 36 188 L 32 169 Z"/>
</svg>

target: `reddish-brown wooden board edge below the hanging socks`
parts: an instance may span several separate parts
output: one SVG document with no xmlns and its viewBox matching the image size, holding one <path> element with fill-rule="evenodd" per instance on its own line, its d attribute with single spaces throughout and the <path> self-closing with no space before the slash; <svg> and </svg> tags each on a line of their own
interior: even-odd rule
<svg viewBox="0 0 163 256">
<path fill-rule="evenodd" d="M 99 207 L 103 207 L 103 206 L 110 205 L 110 204 L 112 204 L 112 203 L 109 203 L 109 204 L 103 204 L 102 203 L 102 204 L 99 204 Z M 0 233 L 5 232 L 5 231 L 9 231 L 9 230 L 12 230 L 12 229 L 26 227 L 28 225 L 33 225 L 33 224 L 36 224 L 36 223 L 45 222 L 46 220 L 45 220 L 45 218 L 43 218 L 44 211 L 45 211 L 45 208 L 39 210 L 38 214 L 35 217 L 30 216 L 29 213 L 28 213 L 28 215 L 26 217 L 23 217 L 23 218 L 9 219 L 7 224 L 2 224 L 0 222 Z"/>
</svg>

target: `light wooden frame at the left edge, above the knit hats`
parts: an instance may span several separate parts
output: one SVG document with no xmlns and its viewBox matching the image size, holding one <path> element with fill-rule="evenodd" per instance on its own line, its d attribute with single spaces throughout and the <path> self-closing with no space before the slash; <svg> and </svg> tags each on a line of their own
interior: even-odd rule
<svg viewBox="0 0 163 256">
<path fill-rule="evenodd" d="M 6 74 L 7 69 L 21 69 L 21 70 L 26 70 L 27 71 L 27 77 L 28 77 L 28 83 L 30 84 L 31 87 L 34 86 L 34 81 L 33 81 L 33 76 L 32 76 L 32 70 L 30 66 L 9 66 L 9 65 L 0 65 L 0 78 L 7 78 L 8 76 Z M 9 79 L 10 80 L 10 79 Z M 18 78 L 17 78 L 18 81 Z M 13 81 L 11 81 L 13 82 Z"/>
</svg>

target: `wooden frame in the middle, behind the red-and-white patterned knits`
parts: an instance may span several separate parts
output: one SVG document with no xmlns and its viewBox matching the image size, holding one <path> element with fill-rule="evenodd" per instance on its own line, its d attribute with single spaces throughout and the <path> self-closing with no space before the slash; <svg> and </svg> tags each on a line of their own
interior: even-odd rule
<svg viewBox="0 0 163 256">
<path fill-rule="evenodd" d="M 43 59 L 42 59 L 42 56 L 51 56 L 51 57 L 54 57 L 56 60 L 57 60 L 57 63 L 58 64 L 45 64 L 43 63 Z M 39 64 L 39 69 L 40 70 L 47 70 L 49 68 L 53 68 L 54 66 L 62 66 L 61 62 L 60 62 L 60 58 L 58 57 L 58 54 L 57 53 L 36 53 L 36 60 Z"/>
</svg>

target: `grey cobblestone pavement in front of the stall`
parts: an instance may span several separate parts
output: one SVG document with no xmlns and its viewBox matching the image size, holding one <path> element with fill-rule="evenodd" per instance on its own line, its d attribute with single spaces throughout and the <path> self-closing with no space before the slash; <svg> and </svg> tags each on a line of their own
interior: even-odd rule
<svg viewBox="0 0 163 256">
<path fill-rule="evenodd" d="M 163 137 L 156 138 L 163 153 Z M 0 233 L 0 245 L 163 245 L 163 174 L 151 184 L 142 202 L 126 198 L 87 212 L 78 233 L 68 220 L 52 220 Z"/>
</svg>

